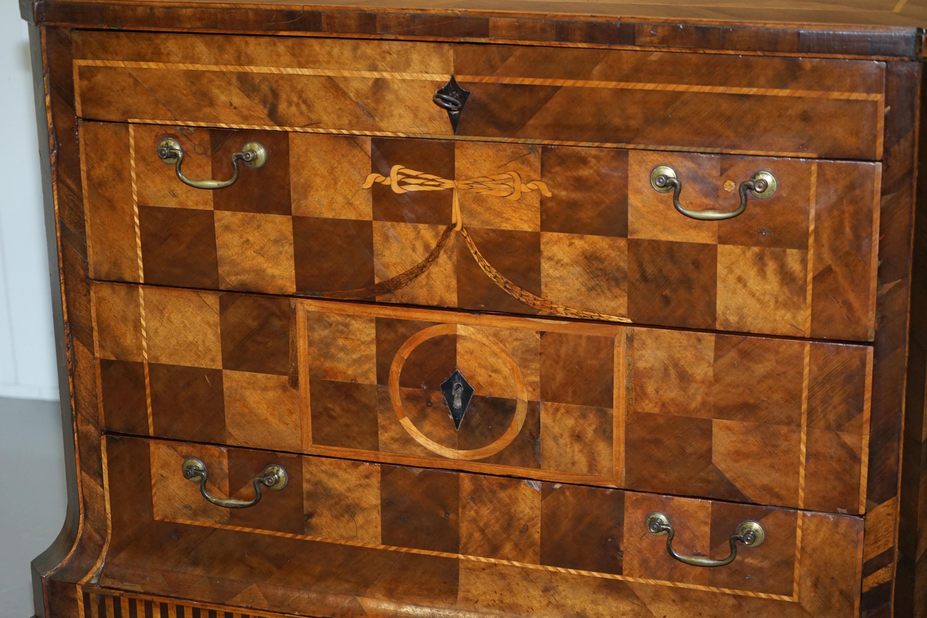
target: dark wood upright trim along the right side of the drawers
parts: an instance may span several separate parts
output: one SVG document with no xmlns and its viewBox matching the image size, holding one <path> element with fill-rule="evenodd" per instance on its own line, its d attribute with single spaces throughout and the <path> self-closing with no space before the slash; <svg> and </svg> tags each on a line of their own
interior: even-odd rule
<svg viewBox="0 0 927 618">
<path fill-rule="evenodd" d="M 886 574 L 863 580 L 859 615 L 890 618 L 895 612 L 894 562 L 898 555 L 898 492 L 904 432 L 905 373 L 911 293 L 911 242 L 920 131 L 922 66 L 893 62 L 885 74 L 885 132 L 880 206 L 876 336 L 873 342 L 870 465 L 864 560 L 891 555 Z M 898 586 L 899 599 L 904 585 Z"/>
</svg>

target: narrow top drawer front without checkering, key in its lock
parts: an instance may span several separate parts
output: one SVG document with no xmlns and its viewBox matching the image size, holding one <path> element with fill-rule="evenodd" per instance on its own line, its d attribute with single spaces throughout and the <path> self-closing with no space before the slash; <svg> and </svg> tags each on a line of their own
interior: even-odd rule
<svg viewBox="0 0 927 618">
<path fill-rule="evenodd" d="M 75 32 L 78 115 L 314 132 L 882 158 L 884 63 L 511 45 Z M 581 113 L 577 113 L 582 110 Z"/>
</svg>

